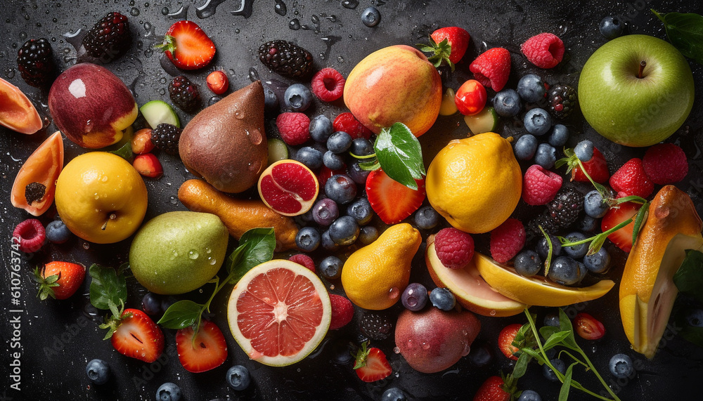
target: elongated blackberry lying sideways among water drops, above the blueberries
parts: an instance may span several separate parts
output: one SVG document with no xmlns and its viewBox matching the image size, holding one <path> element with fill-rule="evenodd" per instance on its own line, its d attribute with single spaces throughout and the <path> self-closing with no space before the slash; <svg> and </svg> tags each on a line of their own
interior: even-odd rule
<svg viewBox="0 0 703 401">
<path fill-rule="evenodd" d="M 285 40 L 267 41 L 259 47 L 259 60 L 269 70 L 289 78 L 304 78 L 312 72 L 309 51 Z"/>
</svg>

